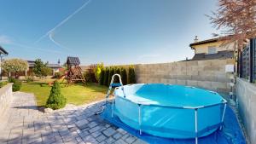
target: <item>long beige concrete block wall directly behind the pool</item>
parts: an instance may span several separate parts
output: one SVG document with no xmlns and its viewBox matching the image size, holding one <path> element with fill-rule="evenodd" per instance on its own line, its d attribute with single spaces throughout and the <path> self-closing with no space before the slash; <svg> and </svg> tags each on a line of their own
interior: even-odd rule
<svg viewBox="0 0 256 144">
<path fill-rule="evenodd" d="M 225 65 L 235 60 L 193 60 L 135 65 L 137 83 L 191 85 L 220 93 L 230 91 L 230 75 Z"/>
</svg>

